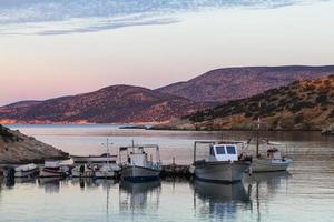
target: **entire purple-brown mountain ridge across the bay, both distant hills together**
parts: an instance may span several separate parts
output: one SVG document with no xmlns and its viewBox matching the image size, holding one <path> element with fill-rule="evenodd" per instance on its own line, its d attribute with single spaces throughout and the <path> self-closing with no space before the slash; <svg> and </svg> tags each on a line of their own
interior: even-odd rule
<svg viewBox="0 0 334 222">
<path fill-rule="evenodd" d="M 215 69 L 155 90 L 116 84 L 43 101 L 19 101 L 0 107 L 0 123 L 161 123 L 295 80 L 328 74 L 334 74 L 334 65 Z"/>
</svg>

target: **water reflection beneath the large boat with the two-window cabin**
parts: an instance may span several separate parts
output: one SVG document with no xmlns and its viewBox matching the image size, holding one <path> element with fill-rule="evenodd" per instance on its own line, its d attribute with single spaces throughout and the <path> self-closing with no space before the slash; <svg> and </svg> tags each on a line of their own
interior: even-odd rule
<svg viewBox="0 0 334 222">
<path fill-rule="evenodd" d="M 193 189 L 194 208 L 199 216 L 230 218 L 238 208 L 252 206 L 249 194 L 240 182 L 222 184 L 195 180 Z"/>
</svg>

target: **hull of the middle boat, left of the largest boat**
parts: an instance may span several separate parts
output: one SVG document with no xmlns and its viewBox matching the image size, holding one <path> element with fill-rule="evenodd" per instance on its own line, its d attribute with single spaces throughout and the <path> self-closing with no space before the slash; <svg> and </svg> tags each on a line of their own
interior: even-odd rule
<svg viewBox="0 0 334 222">
<path fill-rule="evenodd" d="M 158 180 L 160 170 L 127 165 L 121 169 L 121 179 L 131 182 Z"/>
</svg>

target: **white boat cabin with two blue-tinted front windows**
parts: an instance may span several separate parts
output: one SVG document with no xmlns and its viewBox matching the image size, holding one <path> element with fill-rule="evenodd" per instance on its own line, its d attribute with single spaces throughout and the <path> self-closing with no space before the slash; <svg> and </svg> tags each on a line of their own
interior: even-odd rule
<svg viewBox="0 0 334 222">
<path fill-rule="evenodd" d="M 236 144 L 210 145 L 209 161 L 237 161 L 238 152 Z"/>
</svg>

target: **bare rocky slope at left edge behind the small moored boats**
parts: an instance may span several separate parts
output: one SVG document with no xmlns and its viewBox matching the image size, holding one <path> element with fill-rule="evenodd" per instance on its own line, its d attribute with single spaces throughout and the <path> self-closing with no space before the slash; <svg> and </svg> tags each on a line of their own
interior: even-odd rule
<svg viewBox="0 0 334 222">
<path fill-rule="evenodd" d="M 61 150 L 0 125 L 0 163 L 43 162 L 46 159 L 67 159 Z"/>
</svg>

